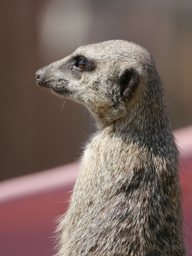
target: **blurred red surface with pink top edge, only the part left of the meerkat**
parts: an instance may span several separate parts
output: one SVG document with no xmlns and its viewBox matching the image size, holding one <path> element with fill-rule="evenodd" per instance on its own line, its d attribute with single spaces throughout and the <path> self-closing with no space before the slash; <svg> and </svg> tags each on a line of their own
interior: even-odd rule
<svg viewBox="0 0 192 256">
<path fill-rule="evenodd" d="M 56 218 L 68 207 L 78 164 L 0 182 L 0 256 L 54 254 Z"/>
</svg>

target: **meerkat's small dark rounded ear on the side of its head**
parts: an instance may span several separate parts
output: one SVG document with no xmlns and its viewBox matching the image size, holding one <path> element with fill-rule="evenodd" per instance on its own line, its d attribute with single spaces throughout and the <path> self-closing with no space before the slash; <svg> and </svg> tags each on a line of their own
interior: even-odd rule
<svg viewBox="0 0 192 256">
<path fill-rule="evenodd" d="M 138 72 L 135 68 L 126 69 L 120 77 L 120 95 L 122 100 L 128 99 L 138 84 Z"/>
</svg>

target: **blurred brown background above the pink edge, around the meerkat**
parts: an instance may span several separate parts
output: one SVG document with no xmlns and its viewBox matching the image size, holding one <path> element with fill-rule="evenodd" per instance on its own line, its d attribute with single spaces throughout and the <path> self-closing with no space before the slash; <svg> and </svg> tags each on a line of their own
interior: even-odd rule
<svg viewBox="0 0 192 256">
<path fill-rule="evenodd" d="M 191 0 L 0 1 L 0 180 L 79 158 L 95 126 L 74 102 L 38 88 L 38 68 L 82 44 L 123 39 L 148 49 L 174 129 L 192 124 Z"/>
</svg>

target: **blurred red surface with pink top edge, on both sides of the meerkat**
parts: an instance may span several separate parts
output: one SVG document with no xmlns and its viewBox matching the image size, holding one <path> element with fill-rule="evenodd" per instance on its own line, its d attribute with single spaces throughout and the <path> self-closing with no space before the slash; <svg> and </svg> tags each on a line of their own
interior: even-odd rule
<svg viewBox="0 0 192 256">
<path fill-rule="evenodd" d="M 175 132 L 181 152 L 184 231 L 192 255 L 192 126 Z M 0 256 L 51 256 L 57 216 L 68 206 L 78 164 L 0 182 Z"/>
</svg>

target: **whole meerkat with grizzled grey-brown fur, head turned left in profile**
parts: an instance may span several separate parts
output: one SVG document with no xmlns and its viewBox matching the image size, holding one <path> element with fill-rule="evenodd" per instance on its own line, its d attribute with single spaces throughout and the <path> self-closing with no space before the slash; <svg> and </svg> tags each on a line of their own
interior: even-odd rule
<svg viewBox="0 0 192 256">
<path fill-rule="evenodd" d="M 81 46 L 36 73 L 37 84 L 84 104 L 90 139 L 58 232 L 58 256 L 186 256 L 178 150 L 162 82 L 141 46 Z"/>
</svg>

